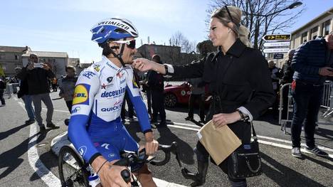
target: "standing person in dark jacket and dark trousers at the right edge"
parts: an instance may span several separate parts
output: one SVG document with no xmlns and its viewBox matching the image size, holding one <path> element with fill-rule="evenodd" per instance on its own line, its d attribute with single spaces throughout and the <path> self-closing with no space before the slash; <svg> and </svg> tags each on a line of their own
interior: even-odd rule
<svg viewBox="0 0 333 187">
<path fill-rule="evenodd" d="M 308 41 L 297 48 L 291 63 L 294 114 L 292 116 L 292 156 L 302 158 L 300 134 L 305 119 L 305 149 L 317 156 L 328 156 L 314 145 L 314 130 L 324 92 L 324 82 L 333 77 L 333 32 L 324 38 Z"/>
</svg>

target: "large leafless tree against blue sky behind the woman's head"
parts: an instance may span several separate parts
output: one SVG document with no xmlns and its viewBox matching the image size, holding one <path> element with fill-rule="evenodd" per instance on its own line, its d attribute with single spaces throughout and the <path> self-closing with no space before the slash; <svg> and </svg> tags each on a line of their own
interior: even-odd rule
<svg viewBox="0 0 333 187">
<path fill-rule="evenodd" d="M 287 33 L 287 28 L 295 24 L 297 18 L 305 11 L 305 6 L 302 6 L 301 9 L 297 8 L 297 11 L 286 10 L 275 13 L 295 2 L 291 0 L 211 0 L 207 13 L 210 15 L 215 9 L 226 5 L 239 7 L 243 10 L 242 24 L 250 31 L 249 38 L 253 42 L 253 48 L 261 49 L 263 36 Z"/>
</svg>

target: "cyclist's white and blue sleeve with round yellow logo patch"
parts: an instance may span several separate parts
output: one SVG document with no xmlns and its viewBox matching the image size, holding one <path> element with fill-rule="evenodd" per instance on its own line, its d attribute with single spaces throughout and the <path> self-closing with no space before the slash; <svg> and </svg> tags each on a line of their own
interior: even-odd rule
<svg viewBox="0 0 333 187">
<path fill-rule="evenodd" d="M 100 80 L 93 71 L 84 70 L 80 74 L 75 85 L 72 115 L 68 125 L 68 138 L 83 159 L 90 164 L 101 155 L 93 145 L 86 129 L 99 85 Z"/>
</svg>

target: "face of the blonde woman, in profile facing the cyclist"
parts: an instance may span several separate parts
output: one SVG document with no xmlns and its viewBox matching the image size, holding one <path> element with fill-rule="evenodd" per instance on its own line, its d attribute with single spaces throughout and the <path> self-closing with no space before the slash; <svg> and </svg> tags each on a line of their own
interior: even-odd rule
<svg viewBox="0 0 333 187">
<path fill-rule="evenodd" d="M 222 46 L 229 36 L 229 29 L 218 21 L 218 18 L 211 18 L 211 23 L 209 23 L 209 39 L 213 43 L 213 46 Z"/>
</svg>

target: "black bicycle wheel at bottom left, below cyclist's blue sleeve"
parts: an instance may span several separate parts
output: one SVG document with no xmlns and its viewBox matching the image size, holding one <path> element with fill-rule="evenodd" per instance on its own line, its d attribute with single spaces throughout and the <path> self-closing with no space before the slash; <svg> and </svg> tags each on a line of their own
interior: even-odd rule
<svg viewBox="0 0 333 187">
<path fill-rule="evenodd" d="M 82 159 L 70 146 L 63 146 L 59 152 L 58 169 L 61 186 L 89 186 L 89 171 Z"/>
</svg>

